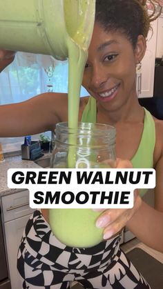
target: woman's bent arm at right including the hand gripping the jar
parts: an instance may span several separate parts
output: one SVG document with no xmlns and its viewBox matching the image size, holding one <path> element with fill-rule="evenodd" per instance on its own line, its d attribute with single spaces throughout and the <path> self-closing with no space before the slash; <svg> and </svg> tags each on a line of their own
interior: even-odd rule
<svg viewBox="0 0 163 289">
<path fill-rule="evenodd" d="M 130 168 L 128 161 L 119 161 L 117 168 Z M 157 161 L 155 209 L 140 199 L 135 190 L 134 206 L 131 209 L 110 209 L 97 219 L 97 226 L 104 228 L 104 239 L 110 239 L 124 226 L 151 248 L 163 252 L 163 155 Z M 147 192 L 148 194 L 148 192 Z"/>
</svg>

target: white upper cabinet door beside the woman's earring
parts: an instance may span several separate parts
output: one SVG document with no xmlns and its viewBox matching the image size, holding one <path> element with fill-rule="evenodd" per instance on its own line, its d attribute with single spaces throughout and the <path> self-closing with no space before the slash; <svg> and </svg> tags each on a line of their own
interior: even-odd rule
<svg viewBox="0 0 163 289">
<path fill-rule="evenodd" d="M 142 59 L 142 89 L 137 88 L 138 97 L 153 97 L 154 75 L 155 75 L 155 53 L 157 41 L 157 20 L 152 23 L 153 32 L 148 33 L 146 53 Z"/>
</svg>

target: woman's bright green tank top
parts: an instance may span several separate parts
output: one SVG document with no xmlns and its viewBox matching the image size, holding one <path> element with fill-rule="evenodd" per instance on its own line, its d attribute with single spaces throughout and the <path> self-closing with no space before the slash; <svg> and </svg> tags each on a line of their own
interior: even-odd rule
<svg viewBox="0 0 163 289">
<path fill-rule="evenodd" d="M 155 149 L 155 121 L 151 116 L 151 113 L 144 108 L 144 130 L 142 132 L 142 138 L 140 145 L 137 148 L 137 152 L 131 159 L 133 168 L 153 168 L 153 154 Z M 88 103 L 84 108 L 84 112 L 81 117 L 81 121 L 95 123 L 97 117 L 97 105 L 96 100 L 93 97 L 89 97 Z M 141 197 L 145 194 L 146 189 L 140 191 Z"/>
</svg>

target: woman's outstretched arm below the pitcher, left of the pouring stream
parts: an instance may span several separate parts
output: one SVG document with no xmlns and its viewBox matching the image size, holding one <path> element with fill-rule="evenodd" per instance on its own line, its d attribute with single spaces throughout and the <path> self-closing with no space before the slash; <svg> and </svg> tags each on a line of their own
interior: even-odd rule
<svg viewBox="0 0 163 289">
<path fill-rule="evenodd" d="M 67 94 L 47 92 L 28 101 L 0 106 L 0 137 L 21 137 L 67 120 Z"/>
</svg>

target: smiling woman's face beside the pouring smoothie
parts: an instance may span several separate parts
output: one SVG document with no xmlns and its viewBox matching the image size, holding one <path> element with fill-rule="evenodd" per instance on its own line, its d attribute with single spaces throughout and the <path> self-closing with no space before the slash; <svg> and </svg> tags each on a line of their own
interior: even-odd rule
<svg viewBox="0 0 163 289">
<path fill-rule="evenodd" d="M 83 86 L 106 109 L 121 106 L 135 90 L 136 59 L 133 46 L 119 32 L 105 32 L 95 23 L 84 70 Z"/>
</svg>

